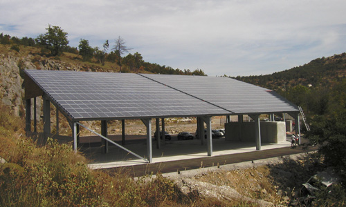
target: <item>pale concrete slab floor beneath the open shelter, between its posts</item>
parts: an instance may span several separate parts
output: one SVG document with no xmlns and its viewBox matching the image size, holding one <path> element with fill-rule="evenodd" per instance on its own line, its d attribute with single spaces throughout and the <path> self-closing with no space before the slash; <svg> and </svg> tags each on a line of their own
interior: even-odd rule
<svg viewBox="0 0 346 207">
<path fill-rule="evenodd" d="M 268 150 L 289 146 L 291 146 L 290 141 L 282 141 L 278 144 L 262 143 L 261 149 Z M 147 157 L 147 146 L 143 140 L 138 141 L 138 144 L 128 144 L 124 147 L 141 157 Z M 255 142 L 226 141 L 224 138 L 212 139 L 212 148 L 212 156 L 256 151 Z M 147 163 L 143 159 L 138 159 L 138 157 L 129 154 L 129 152 L 113 146 L 113 144 L 109 144 L 109 153 L 104 154 L 102 150 L 102 147 L 80 148 L 80 151 L 91 160 L 89 168 L 117 168 Z M 161 149 L 157 149 L 156 141 L 153 140 L 152 157 L 152 163 L 208 157 L 207 145 L 206 142 L 204 145 L 201 145 L 200 139 L 162 141 Z"/>
</svg>

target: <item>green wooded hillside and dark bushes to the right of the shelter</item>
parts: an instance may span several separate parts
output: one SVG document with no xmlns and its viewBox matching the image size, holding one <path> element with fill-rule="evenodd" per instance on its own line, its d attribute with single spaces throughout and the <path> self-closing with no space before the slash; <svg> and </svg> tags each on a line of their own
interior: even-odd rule
<svg viewBox="0 0 346 207">
<path fill-rule="evenodd" d="M 323 190 L 316 206 L 343 206 L 346 199 L 346 53 L 322 57 L 272 75 L 237 77 L 271 88 L 302 106 L 311 131 L 304 132 L 309 145 L 318 144 L 325 166 L 338 170 L 342 187 Z M 307 146 L 307 147 L 308 147 Z"/>
</svg>

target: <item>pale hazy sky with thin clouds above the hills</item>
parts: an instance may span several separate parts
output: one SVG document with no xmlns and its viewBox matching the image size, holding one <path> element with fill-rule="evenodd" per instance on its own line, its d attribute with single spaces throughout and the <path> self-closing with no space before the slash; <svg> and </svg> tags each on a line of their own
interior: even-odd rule
<svg viewBox="0 0 346 207">
<path fill-rule="evenodd" d="M 147 62 L 236 77 L 346 52 L 345 10 L 345 0 L 0 0 L 0 33 L 59 26 L 69 46 L 93 48 L 121 37 Z"/>
</svg>

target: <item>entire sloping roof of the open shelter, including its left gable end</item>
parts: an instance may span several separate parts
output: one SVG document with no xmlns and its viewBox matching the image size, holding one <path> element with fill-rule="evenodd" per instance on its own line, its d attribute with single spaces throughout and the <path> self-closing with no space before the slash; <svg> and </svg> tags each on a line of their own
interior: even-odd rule
<svg viewBox="0 0 346 207">
<path fill-rule="evenodd" d="M 299 112 L 298 107 L 295 106 L 290 101 L 284 99 L 280 95 L 277 95 L 276 92 L 273 92 L 272 90 L 268 90 L 266 88 L 261 88 L 258 86 L 254 86 L 249 83 L 244 83 L 242 81 L 236 81 L 235 79 L 230 79 L 228 77 L 197 77 L 197 76 L 183 76 L 183 75 L 147 75 L 147 74 L 120 74 L 120 73 L 107 73 L 107 72 L 71 72 L 71 71 L 56 71 L 56 70 L 24 70 L 26 73 L 26 81 L 25 81 L 25 88 L 26 88 L 26 99 L 37 97 L 39 95 L 46 95 L 46 98 L 51 101 L 57 108 L 59 108 L 60 112 L 62 112 L 69 120 L 71 121 L 90 121 L 90 120 L 114 120 L 114 119 L 147 119 L 147 118 L 163 118 L 163 117 L 198 117 L 198 116 L 218 116 L 218 115 L 253 115 L 253 114 L 266 114 L 266 113 L 291 113 L 291 112 Z M 43 76 L 42 76 L 43 75 Z M 46 79 L 46 75 L 52 75 L 51 77 L 48 77 Z M 60 75 L 63 75 L 62 77 L 59 77 Z M 143 84 L 149 88 L 149 90 L 154 90 L 154 92 L 147 92 L 147 95 L 150 95 L 151 97 L 143 97 L 144 101 L 147 101 L 148 104 L 141 104 L 140 106 L 136 103 L 138 103 L 138 100 L 140 99 L 134 99 L 136 95 L 139 95 L 141 92 L 143 92 L 143 88 L 140 88 L 142 85 L 138 85 L 138 87 L 131 87 L 131 83 L 127 86 L 113 86 L 119 88 L 119 90 L 126 90 L 125 92 L 120 92 L 118 97 L 111 96 L 112 101 L 107 101 L 107 95 L 109 96 L 109 93 L 107 93 L 107 90 L 109 88 L 106 85 L 102 86 L 104 88 L 101 88 L 100 90 L 95 90 L 96 92 L 102 93 L 105 92 L 105 97 L 99 97 L 99 100 L 91 100 L 92 97 L 88 94 L 88 89 L 83 90 L 80 84 L 82 84 L 83 80 L 80 80 L 80 83 L 70 83 L 66 82 L 66 75 L 71 75 L 71 80 L 75 81 L 78 79 L 86 79 L 88 77 L 91 77 L 92 79 L 95 77 L 104 78 L 107 77 L 108 79 L 105 81 L 102 80 L 95 80 L 98 82 L 95 82 L 94 80 L 91 81 L 93 86 L 90 86 L 92 88 L 95 88 L 98 83 L 107 82 L 111 83 L 113 79 L 109 79 L 111 77 L 116 77 L 117 80 L 122 81 L 122 83 L 125 83 L 127 79 L 129 79 L 129 82 L 131 81 L 143 81 Z M 79 77 L 73 77 L 73 75 L 80 75 Z M 134 77 L 136 76 L 136 77 Z M 66 86 L 55 86 L 52 81 L 52 79 L 57 79 L 55 83 L 58 83 L 59 81 L 65 81 L 62 84 L 69 84 L 69 90 L 66 90 Z M 185 81 L 185 86 L 181 87 L 179 84 L 179 80 L 183 79 Z M 125 81 L 124 81 L 125 80 Z M 173 81 L 177 81 L 177 83 L 174 83 Z M 223 81 L 221 84 L 224 88 L 222 90 L 219 88 L 219 80 Z M 133 82 L 134 83 L 134 82 Z M 198 84 L 198 86 L 194 86 L 193 84 Z M 70 86 L 71 85 L 71 86 Z M 80 87 L 81 86 L 81 87 Z M 215 86 L 215 87 L 212 87 Z M 65 88 L 64 88 L 65 87 Z M 80 88 L 78 88 L 80 87 Z M 63 89 L 61 89 L 63 88 Z M 209 94 L 203 95 L 203 90 L 206 90 L 208 88 Z M 234 89 L 235 88 L 235 89 Z M 75 94 L 73 93 L 73 90 L 75 90 Z M 82 94 L 79 95 L 78 91 Z M 139 92 L 136 92 L 135 90 L 138 90 Z M 157 91 L 156 91 L 157 90 Z M 231 91 L 233 90 L 233 91 Z M 58 92 L 57 92 L 58 91 Z M 248 92 L 251 91 L 251 92 Z M 169 101 L 172 101 L 173 99 L 171 97 L 159 97 L 160 95 L 163 95 L 165 92 L 168 92 L 176 97 L 181 97 L 181 100 L 183 103 L 180 104 L 179 101 L 175 101 L 174 103 L 170 103 L 165 100 L 169 99 Z M 227 92 L 228 97 L 221 97 L 223 92 Z M 129 95 L 127 95 L 127 93 Z M 134 94 L 131 94 L 134 93 Z M 247 94 L 246 94 L 247 93 Z M 64 94 L 71 94 L 71 96 L 74 97 L 74 100 L 64 100 L 63 95 Z M 158 96 L 156 97 L 155 94 Z M 239 99 L 242 99 L 241 101 L 237 101 L 237 98 L 233 98 L 232 95 L 237 96 Z M 93 107 L 93 110 L 98 110 L 97 106 L 116 106 L 121 108 L 123 106 L 122 112 L 118 112 L 120 114 L 119 116 L 86 116 L 86 117 L 75 117 L 74 115 L 79 115 L 78 112 L 73 114 L 76 110 L 83 111 L 83 115 L 86 115 L 86 112 L 84 110 L 88 109 L 88 106 L 83 103 L 83 99 L 85 97 L 82 97 L 82 95 L 89 96 L 89 100 L 87 102 L 93 102 L 91 104 L 91 107 Z M 95 95 L 95 94 L 94 94 Z M 125 98 L 121 97 L 126 96 Z M 246 95 L 253 95 L 257 96 L 256 98 L 253 97 L 246 97 Z M 213 96 L 216 96 L 214 98 Z M 221 97 L 220 100 L 218 100 L 217 96 Z M 226 95 L 225 95 L 226 96 Z M 262 97 L 261 97 L 262 96 Z M 71 99 L 70 97 L 66 96 L 67 99 Z M 131 100 L 134 99 L 134 100 Z M 153 99 L 153 100 L 150 100 Z M 270 99 L 266 101 L 266 99 Z M 100 103 L 98 103 L 98 101 Z M 137 102 L 136 102 L 137 101 Z M 148 102 L 149 101 L 149 102 Z M 192 101 L 191 104 L 189 104 L 189 101 Z M 246 102 L 248 101 L 248 102 Z M 261 101 L 260 103 L 256 103 L 256 101 Z M 275 101 L 275 103 L 271 103 L 270 101 Z M 233 103 L 230 103 L 233 102 Z M 70 103 L 70 105 L 69 105 Z M 80 103 L 78 105 L 78 103 Z M 117 105 L 118 104 L 118 105 Z M 185 104 L 185 105 L 184 105 Z M 233 105 L 232 105 L 233 104 Z M 259 106 L 262 108 L 255 108 L 256 106 Z M 281 105 L 280 105 L 281 104 Z M 73 108 L 70 106 L 76 106 L 77 108 Z M 167 105 L 167 113 L 165 112 L 157 112 L 156 108 L 162 108 L 166 107 Z M 192 106 L 188 106 L 192 105 Z M 197 106 L 198 105 L 198 106 Z M 85 106 L 85 108 L 81 108 L 81 106 Z M 132 112 L 131 114 L 128 113 L 127 110 L 131 109 L 128 106 L 137 106 L 138 109 L 143 109 L 143 112 Z M 147 106 L 147 107 L 144 107 Z M 201 110 L 194 110 L 194 108 L 200 107 Z M 232 107 L 235 108 L 232 108 Z M 264 107 L 263 107 L 264 106 Z M 268 107 L 266 107 L 268 106 Z M 70 107 L 70 108 L 69 108 Z M 190 107 L 190 110 L 183 110 L 186 107 Z M 239 110 L 238 108 L 242 107 L 245 108 Z M 248 110 L 246 110 L 246 107 Z M 276 108 L 275 108 L 276 107 Z M 136 107 L 135 107 L 136 108 Z M 203 110 L 205 108 L 206 110 Z M 164 108 L 163 108 L 164 109 Z M 109 110 L 109 108 L 105 109 Z M 145 111 L 148 110 L 148 111 Z M 92 111 L 92 110 L 90 110 Z M 100 112 L 100 114 L 104 114 L 103 112 Z M 111 113 L 110 113 L 111 114 Z M 116 114 L 116 113 L 113 113 Z M 97 115 L 97 112 L 96 112 Z"/>
</svg>

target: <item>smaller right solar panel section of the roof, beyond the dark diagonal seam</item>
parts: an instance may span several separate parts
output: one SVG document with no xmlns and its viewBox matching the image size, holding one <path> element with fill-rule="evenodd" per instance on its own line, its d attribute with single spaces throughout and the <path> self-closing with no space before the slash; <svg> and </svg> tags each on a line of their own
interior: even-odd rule
<svg viewBox="0 0 346 207">
<path fill-rule="evenodd" d="M 293 103 L 271 90 L 228 77 L 152 74 L 143 76 L 236 114 L 298 111 Z"/>
</svg>

